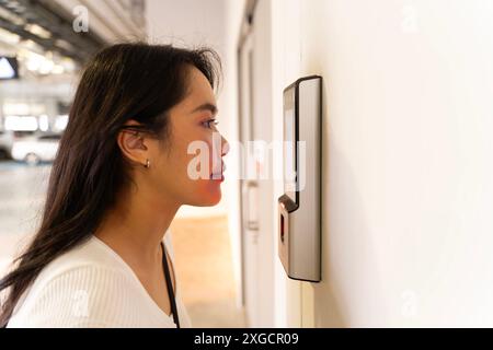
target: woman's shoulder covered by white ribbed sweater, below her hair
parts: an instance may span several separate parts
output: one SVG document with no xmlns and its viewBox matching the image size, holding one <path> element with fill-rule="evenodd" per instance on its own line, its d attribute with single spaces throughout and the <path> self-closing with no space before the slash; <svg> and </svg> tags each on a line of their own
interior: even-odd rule
<svg viewBox="0 0 493 350">
<path fill-rule="evenodd" d="M 133 276 L 91 238 L 43 269 L 9 327 L 118 326 L 138 316 L 139 296 Z"/>
</svg>

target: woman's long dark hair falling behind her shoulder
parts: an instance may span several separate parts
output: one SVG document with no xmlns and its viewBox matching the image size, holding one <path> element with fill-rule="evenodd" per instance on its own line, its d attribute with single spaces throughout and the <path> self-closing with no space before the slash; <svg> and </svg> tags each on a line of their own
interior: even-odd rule
<svg viewBox="0 0 493 350">
<path fill-rule="evenodd" d="M 53 164 L 39 229 L 0 280 L 0 293 L 8 292 L 0 327 L 42 269 L 85 242 L 115 195 L 131 183 L 131 165 L 116 141 L 124 124 L 134 119 L 140 131 L 160 140 L 169 136 L 168 112 L 186 96 L 191 67 L 217 88 L 220 59 L 209 48 L 118 44 L 88 63 Z"/>
</svg>

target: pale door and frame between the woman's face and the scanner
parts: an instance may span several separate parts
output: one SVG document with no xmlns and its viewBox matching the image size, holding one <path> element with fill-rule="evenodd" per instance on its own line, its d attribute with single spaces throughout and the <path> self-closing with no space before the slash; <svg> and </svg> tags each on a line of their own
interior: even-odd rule
<svg viewBox="0 0 493 350">
<path fill-rule="evenodd" d="M 274 79 L 272 72 L 272 4 L 270 1 L 256 1 L 250 0 L 246 2 L 245 14 L 243 16 L 241 40 L 238 47 L 239 58 L 239 81 L 240 81 L 240 112 L 244 110 L 244 98 L 250 100 L 251 104 L 250 116 L 251 118 L 250 130 L 251 141 L 256 139 L 264 140 L 267 143 L 273 141 L 273 125 L 272 122 L 265 122 L 263 116 L 271 115 L 273 109 L 274 92 L 272 90 Z M 244 67 L 244 45 L 251 45 L 249 60 L 253 67 L 250 68 L 250 96 L 245 97 L 242 77 Z M 250 46 L 249 46 L 250 47 Z M 243 60 L 241 56 L 243 54 Z M 242 65 L 243 63 L 243 65 Z M 249 79 L 249 78 L 246 78 Z M 240 114 L 240 117 L 243 117 Z M 268 120 L 268 119 L 267 119 Z M 244 119 L 240 119 L 240 138 L 243 138 L 245 133 L 242 128 Z M 243 131 L 243 132 L 242 132 Z M 245 148 L 250 149 L 250 148 Z M 250 155 L 250 154 L 249 154 Z M 272 171 L 270 163 L 271 156 L 264 161 L 253 160 L 255 166 L 259 168 Z M 251 160 L 248 160 L 251 161 Z M 249 164 L 250 165 L 250 164 Z M 253 171 L 259 172 L 259 168 Z M 261 171 L 262 172 L 262 171 Z M 256 174 L 259 176 L 260 174 Z M 242 262 L 242 300 L 245 303 L 246 318 L 250 326 L 253 327 L 273 327 L 275 324 L 275 233 L 273 232 L 274 224 L 276 222 L 276 212 L 272 206 L 274 199 L 274 179 L 257 178 L 255 176 L 254 182 L 242 182 L 240 188 L 240 202 L 241 202 L 241 262 Z M 246 190 L 244 190 L 246 188 Z M 249 205 L 249 200 L 245 200 L 244 196 L 252 198 L 249 206 L 251 210 L 245 206 Z M 253 205 L 253 206 L 252 206 Z M 250 214 L 254 211 L 253 217 L 249 215 L 249 221 L 244 221 L 245 211 Z M 256 230 L 252 229 L 252 221 L 256 222 Z M 255 226 L 255 225 L 254 225 Z M 250 261 L 254 259 L 254 261 Z M 253 272 L 252 272 L 253 271 Z M 250 301 L 249 301 L 250 300 Z"/>
</svg>

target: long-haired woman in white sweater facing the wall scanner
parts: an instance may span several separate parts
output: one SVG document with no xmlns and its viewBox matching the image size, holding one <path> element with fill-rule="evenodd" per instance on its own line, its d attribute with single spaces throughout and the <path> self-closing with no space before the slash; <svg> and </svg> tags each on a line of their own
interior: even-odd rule
<svg viewBox="0 0 493 350">
<path fill-rule="evenodd" d="M 191 326 L 164 233 L 182 205 L 214 206 L 221 197 L 228 143 L 219 136 L 213 144 L 216 68 L 210 49 L 119 44 L 94 57 L 60 141 L 41 228 L 0 281 L 0 326 Z M 194 142 L 208 151 L 198 165 Z M 207 168 L 206 178 L 193 174 Z"/>
</svg>

